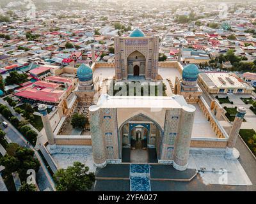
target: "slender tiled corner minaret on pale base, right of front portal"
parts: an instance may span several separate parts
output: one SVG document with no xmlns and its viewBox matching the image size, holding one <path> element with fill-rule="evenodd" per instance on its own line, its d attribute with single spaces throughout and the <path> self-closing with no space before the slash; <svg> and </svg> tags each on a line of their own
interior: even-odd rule
<svg viewBox="0 0 256 204">
<path fill-rule="evenodd" d="M 227 159 L 237 159 L 239 157 L 239 152 L 234 147 L 236 145 L 236 140 L 237 140 L 239 130 L 241 128 L 245 113 L 246 113 L 246 108 L 244 108 L 244 107 L 237 108 L 236 118 L 235 118 L 233 126 L 230 130 L 229 137 L 228 137 L 228 143 L 227 143 L 227 147 L 226 147 L 225 157 Z"/>
</svg>

